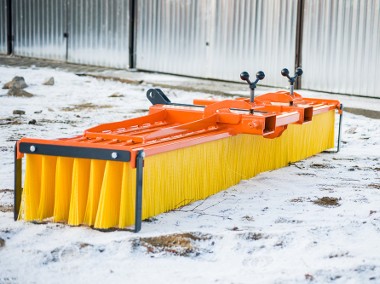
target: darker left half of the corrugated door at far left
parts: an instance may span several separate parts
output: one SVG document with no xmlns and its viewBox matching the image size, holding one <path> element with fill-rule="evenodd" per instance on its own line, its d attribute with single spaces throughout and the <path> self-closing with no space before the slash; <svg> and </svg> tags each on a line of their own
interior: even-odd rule
<svg viewBox="0 0 380 284">
<path fill-rule="evenodd" d="M 13 0 L 14 54 L 65 60 L 65 15 L 66 1 Z"/>
</svg>

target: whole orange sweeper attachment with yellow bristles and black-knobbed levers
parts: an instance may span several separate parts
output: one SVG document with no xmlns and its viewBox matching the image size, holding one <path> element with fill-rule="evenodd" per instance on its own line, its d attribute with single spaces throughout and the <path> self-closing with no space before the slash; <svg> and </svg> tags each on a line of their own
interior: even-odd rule
<svg viewBox="0 0 380 284">
<path fill-rule="evenodd" d="M 141 221 L 256 174 L 334 147 L 335 100 L 290 92 L 172 103 L 150 89 L 146 116 L 73 138 L 22 138 L 15 149 L 15 219 L 137 232 Z M 341 121 L 341 119 L 340 119 Z M 340 123 L 337 151 L 339 151 Z M 22 177 L 22 158 L 26 156 Z M 23 182 L 24 180 L 24 182 Z"/>
</svg>

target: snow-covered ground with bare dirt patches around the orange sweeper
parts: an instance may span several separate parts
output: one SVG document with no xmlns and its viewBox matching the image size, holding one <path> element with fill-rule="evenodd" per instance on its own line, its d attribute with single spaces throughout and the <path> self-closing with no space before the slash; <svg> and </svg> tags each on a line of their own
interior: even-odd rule
<svg viewBox="0 0 380 284">
<path fill-rule="evenodd" d="M 242 181 L 139 234 L 14 222 L 16 140 L 71 137 L 150 105 L 148 85 L 47 68 L 0 66 L 0 86 L 16 75 L 35 96 L 0 89 L 0 283 L 380 283 L 380 120 L 345 113 L 340 153 Z"/>
</svg>

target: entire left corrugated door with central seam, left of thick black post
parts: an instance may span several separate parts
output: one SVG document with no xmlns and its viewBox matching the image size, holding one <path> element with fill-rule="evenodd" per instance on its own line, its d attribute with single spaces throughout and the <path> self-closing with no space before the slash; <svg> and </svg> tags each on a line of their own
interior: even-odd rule
<svg viewBox="0 0 380 284">
<path fill-rule="evenodd" d="M 129 67 L 129 1 L 13 0 L 12 28 L 16 55 Z"/>
</svg>

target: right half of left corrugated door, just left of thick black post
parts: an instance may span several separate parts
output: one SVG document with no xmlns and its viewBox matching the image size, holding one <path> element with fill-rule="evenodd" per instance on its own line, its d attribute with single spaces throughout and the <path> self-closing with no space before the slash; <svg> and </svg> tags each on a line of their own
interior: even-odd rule
<svg viewBox="0 0 380 284">
<path fill-rule="evenodd" d="M 128 68 L 129 1 L 70 1 L 68 61 Z"/>
</svg>

